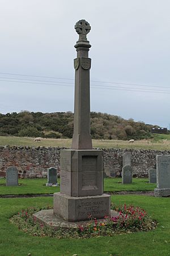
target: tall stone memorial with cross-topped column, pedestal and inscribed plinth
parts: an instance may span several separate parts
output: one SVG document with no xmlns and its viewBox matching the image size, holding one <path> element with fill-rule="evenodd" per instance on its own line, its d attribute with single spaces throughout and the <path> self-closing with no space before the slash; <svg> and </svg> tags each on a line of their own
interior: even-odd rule
<svg viewBox="0 0 170 256">
<path fill-rule="evenodd" d="M 90 68 L 86 20 L 75 24 L 74 133 L 71 149 L 61 150 L 60 192 L 54 193 L 54 215 L 67 221 L 102 219 L 111 215 L 110 196 L 103 194 L 103 151 L 92 149 L 90 135 Z"/>
</svg>

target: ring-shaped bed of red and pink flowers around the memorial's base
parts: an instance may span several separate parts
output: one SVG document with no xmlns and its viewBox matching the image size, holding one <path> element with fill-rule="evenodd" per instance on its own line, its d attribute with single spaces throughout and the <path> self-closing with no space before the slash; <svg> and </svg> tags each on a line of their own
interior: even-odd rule
<svg viewBox="0 0 170 256">
<path fill-rule="evenodd" d="M 147 215 L 144 209 L 133 205 L 112 205 L 111 209 L 118 212 L 117 217 L 105 216 L 103 221 L 93 219 L 87 225 L 79 225 L 78 228 L 56 229 L 52 226 L 45 226 L 36 221 L 32 214 L 42 209 L 51 209 L 51 206 L 44 208 L 28 208 L 18 215 L 14 215 L 10 221 L 24 232 L 32 236 L 49 236 L 57 238 L 89 238 L 96 236 L 114 236 L 115 234 L 147 231 L 155 229 L 156 221 Z"/>
</svg>

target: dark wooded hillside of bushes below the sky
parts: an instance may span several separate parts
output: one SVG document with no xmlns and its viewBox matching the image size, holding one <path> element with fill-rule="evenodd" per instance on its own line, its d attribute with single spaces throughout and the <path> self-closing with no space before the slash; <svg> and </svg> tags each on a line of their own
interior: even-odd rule
<svg viewBox="0 0 170 256">
<path fill-rule="evenodd" d="M 158 127 L 120 116 L 91 112 L 92 139 L 129 140 L 152 137 L 151 128 Z M 22 111 L 0 114 L 0 136 L 71 138 L 73 113 L 41 113 Z"/>
</svg>

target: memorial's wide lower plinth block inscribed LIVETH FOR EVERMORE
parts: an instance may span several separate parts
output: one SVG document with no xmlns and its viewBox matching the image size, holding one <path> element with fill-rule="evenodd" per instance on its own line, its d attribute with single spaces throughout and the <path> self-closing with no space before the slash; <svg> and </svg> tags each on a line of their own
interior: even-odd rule
<svg viewBox="0 0 170 256">
<path fill-rule="evenodd" d="M 54 214 L 67 221 L 88 220 L 89 216 L 102 219 L 111 214 L 111 196 L 68 196 L 61 192 L 54 193 Z"/>
</svg>

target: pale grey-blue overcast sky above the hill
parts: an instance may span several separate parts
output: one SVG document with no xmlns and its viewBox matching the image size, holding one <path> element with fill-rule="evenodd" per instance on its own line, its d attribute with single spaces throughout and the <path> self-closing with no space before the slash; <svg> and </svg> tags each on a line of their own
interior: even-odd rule
<svg viewBox="0 0 170 256">
<path fill-rule="evenodd" d="M 169 0 L 0 0 L 0 112 L 74 111 L 74 25 L 86 19 L 91 111 L 167 127 L 169 10 Z"/>
</svg>

